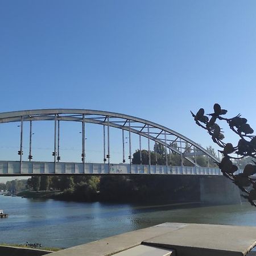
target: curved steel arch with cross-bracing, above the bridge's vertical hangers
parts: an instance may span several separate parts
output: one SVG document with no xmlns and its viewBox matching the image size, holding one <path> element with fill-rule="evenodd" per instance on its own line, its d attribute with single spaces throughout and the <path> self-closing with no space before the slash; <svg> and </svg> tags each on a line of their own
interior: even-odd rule
<svg viewBox="0 0 256 256">
<path fill-rule="evenodd" d="M 109 119 L 109 122 L 107 121 Z M 19 122 L 19 121 L 75 121 L 84 123 L 96 123 L 98 125 L 106 125 L 118 129 L 130 131 L 158 142 L 171 151 L 181 155 L 181 158 L 187 159 L 189 162 L 198 166 L 189 156 L 201 154 L 209 156 L 209 158 L 218 162 L 218 159 L 211 155 L 205 148 L 201 147 L 196 142 L 177 133 L 165 126 L 148 121 L 146 119 L 133 117 L 131 115 L 105 112 L 101 110 L 88 109 L 37 109 L 37 110 L 22 110 L 17 112 L 0 113 L 0 123 Z M 129 125 L 130 124 L 130 125 Z M 147 130 L 147 131 L 146 131 Z M 180 143 L 179 148 L 173 147 L 173 144 Z M 185 153 L 183 150 L 185 145 L 193 152 Z"/>
</svg>

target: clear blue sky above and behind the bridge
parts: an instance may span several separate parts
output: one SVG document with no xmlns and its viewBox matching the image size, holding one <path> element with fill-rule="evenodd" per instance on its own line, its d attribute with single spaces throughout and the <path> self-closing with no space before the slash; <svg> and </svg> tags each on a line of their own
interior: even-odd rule
<svg viewBox="0 0 256 256">
<path fill-rule="evenodd" d="M 106 110 L 213 146 L 189 110 L 211 113 L 218 102 L 256 127 L 255 10 L 254 0 L 0 0 L 0 112 Z M 1 160 L 18 159 L 16 126 L 0 126 Z M 35 125 L 42 155 L 52 127 Z M 80 126 L 63 129 L 72 138 L 63 151 L 77 154 Z"/>
</svg>

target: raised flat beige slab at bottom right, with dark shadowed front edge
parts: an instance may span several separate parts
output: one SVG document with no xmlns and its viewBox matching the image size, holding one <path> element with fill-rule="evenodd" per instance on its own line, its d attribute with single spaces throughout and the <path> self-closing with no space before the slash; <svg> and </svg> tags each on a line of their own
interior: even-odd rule
<svg viewBox="0 0 256 256">
<path fill-rule="evenodd" d="M 142 244 L 175 249 L 177 256 L 243 256 L 256 245 L 256 227 L 187 224 Z"/>
</svg>

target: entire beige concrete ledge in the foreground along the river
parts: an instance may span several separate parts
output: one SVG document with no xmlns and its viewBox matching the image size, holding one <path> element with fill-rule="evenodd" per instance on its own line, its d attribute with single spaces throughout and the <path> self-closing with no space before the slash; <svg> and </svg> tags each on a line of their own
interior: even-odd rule
<svg viewBox="0 0 256 256">
<path fill-rule="evenodd" d="M 256 245 L 256 227 L 164 223 L 51 255 L 108 256 L 141 244 L 175 250 L 177 256 L 244 256 Z"/>
</svg>

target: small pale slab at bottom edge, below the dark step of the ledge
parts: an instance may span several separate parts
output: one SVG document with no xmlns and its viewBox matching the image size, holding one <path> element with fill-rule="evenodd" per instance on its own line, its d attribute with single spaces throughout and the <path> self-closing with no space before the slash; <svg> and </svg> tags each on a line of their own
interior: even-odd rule
<svg viewBox="0 0 256 256">
<path fill-rule="evenodd" d="M 138 245 L 131 249 L 121 251 L 121 253 L 113 254 L 113 256 L 175 256 L 175 251 L 170 249 L 162 249 L 147 245 Z"/>
</svg>

